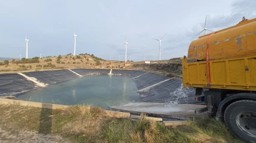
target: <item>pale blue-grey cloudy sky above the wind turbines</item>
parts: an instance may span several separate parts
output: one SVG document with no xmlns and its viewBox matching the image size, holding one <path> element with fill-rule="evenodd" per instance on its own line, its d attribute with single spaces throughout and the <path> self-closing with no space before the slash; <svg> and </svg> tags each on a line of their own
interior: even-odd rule
<svg viewBox="0 0 256 143">
<path fill-rule="evenodd" d="M 157 60 L 187 55 L 192 37 L 204 28 L 214 31 L 236 25 L 242 17 L 256 18 L 255 0 L 67 1 L 0 0 L 0 57 L 54 56 L 93 53 L 104 59 Z"/>
</svg>

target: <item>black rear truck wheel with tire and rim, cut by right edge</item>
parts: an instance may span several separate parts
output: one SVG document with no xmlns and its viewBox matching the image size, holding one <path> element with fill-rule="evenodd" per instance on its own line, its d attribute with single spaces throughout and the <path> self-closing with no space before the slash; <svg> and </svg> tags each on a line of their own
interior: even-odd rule
<svg viewBox="0 0 256 143">
<path fill-rule="evenodd" d="M 225 124 L 245 142 L 256 143 L 256 101 L 239 100 L 231 103 L 224 113 Z"/>
</svg>

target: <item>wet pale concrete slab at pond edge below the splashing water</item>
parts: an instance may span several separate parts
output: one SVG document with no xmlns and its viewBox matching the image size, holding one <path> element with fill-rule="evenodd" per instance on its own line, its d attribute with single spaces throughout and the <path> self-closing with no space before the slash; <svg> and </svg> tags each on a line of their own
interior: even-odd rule
<svg viewBox="0 0 256 143">
<path fill-rule="evenodd" d="M 205 109 L 205 105 L 168 104 L 168 103 L 142 103 L 133 102 L 122 106 L 112 106 L 114 111 L 130 112 L 133 114 L 145 113 L 155 117 L 176 118 L 187 120 L 195 111 Z"/>
</svg>

